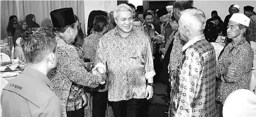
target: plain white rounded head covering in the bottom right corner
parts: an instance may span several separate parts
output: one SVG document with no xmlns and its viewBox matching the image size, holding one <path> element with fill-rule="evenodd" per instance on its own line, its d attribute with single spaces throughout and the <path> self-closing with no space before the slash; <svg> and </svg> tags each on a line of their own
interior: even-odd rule
<svg viewBox="0 0 256 117">
<path fill-rule="evenodd" d="M 235 90 L 223 106 L 223 117 L 255 117 L 256 95 L 250 90 Z"/>
</svg>

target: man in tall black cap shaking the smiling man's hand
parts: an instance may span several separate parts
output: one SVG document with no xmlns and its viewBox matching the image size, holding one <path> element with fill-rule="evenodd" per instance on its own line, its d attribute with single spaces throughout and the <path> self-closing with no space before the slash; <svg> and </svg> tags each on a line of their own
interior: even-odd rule
<svg viewBox="0 0 256 117">
<path fill-rule="evenodd" d="M 89 73 L 84 68 L 84 61 L 76 47 L 72 44 L 77 36 L 77 22 L 72 8 L 60 8 L 50 12 L 55 39 L 57 42 L 58 63 L 48 73 L 53 90 L 60 97 L 62 114 L 66 116 L 84 117 L 83 92 L 77 88 L 97 87 L 105 81 L 96 71 Z"/>
</svg>

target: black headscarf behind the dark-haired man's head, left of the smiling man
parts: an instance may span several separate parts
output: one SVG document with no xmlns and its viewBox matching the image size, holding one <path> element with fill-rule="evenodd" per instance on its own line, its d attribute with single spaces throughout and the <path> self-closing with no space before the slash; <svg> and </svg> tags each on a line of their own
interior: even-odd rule
<svg viewBox="0 0 256 117">
<path fill-rule="evenodd" d="M 91 13 L 89 13 L 89 17 L 88 17 L 88 28 L 87 28 L 87 36 L 91 35 L 91 33 L 93 32 L 93 23 L 94 23 L 94 17 L 98 16 L 98 15 L 102 15 L 102 16 L 106 16 L 108 17 L 108 13 L 106 11 L 91 11 Z"/>
</svg>

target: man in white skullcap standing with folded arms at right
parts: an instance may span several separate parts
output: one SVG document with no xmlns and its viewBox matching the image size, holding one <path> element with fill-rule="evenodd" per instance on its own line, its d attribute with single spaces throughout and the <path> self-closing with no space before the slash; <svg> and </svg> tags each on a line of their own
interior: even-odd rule
<svg viewBox="0 0 256 117">
<path fill-rule="evenodd" d="M 218 87 L 218 101 L 223 104 L 228 94 L 238 89 L 249 89 L 252 72 L 253 51 L 245 41 L 245 33 L 250 18 L 243 13 L 234 13 L 228 23 L 228 38 L 232 42 L 226 46 L 219 56 L 216 75 L 221 80 Z M 218 94 L 218 93 L 217 93 Z"/>
</svg>

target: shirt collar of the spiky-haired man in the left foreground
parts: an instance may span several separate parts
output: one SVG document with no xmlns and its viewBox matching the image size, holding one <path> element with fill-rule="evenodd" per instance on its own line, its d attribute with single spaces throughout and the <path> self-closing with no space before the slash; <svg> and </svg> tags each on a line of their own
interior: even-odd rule
<svg viewBox="0 0 256 117">
<path fill-rule="evenodd" d="M 23 71 L 23 74 L 30 75 L 33 78 L 37 78 L 38 80 L 42 80 L 46 85 L 48 85 L 48 87 L 52 88 L 52 83 L 50 82 L 49 78 L 38 70 L 26 67 Z"/>
</svg>

